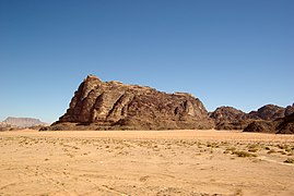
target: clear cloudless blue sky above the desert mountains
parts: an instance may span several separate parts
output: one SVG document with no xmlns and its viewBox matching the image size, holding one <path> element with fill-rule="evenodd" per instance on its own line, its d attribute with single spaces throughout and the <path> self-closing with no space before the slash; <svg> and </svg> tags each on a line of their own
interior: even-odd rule
<svg viewBox="0 0 294 196">
<path fill-rule="evenodd" d="M 0 0 L 0 121 L 54 122 L 87 74 L 209 111 L 294 101 L 293 0 Z"/>
</svg>

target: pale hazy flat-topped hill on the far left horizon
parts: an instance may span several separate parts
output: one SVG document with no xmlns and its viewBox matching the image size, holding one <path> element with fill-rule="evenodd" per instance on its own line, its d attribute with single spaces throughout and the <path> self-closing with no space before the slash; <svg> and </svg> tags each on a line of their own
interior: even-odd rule
<svg viewBox="0 0 294 196">
<path fill-rule="evenodd" d="M 45 122 L 42 122 L 38 119 L 13 118 L 13 117 L 7 118 L 2 123 L 10 124 L 12 126 L 17 126 L 17 127 L 30 127 L 30 126 L 46 125 L 47 124 Z"/>
</svg>

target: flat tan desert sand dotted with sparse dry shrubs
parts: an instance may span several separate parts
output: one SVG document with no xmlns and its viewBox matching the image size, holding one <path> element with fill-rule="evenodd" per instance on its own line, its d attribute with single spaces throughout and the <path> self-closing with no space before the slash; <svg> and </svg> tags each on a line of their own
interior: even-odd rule
<svg viewBox="0 0 294 196">
<path fill-rule="evenodd" d="M 294 135 L 0 132 L 0 195 L 294 195 L 293 154 Z"/>
</svg>

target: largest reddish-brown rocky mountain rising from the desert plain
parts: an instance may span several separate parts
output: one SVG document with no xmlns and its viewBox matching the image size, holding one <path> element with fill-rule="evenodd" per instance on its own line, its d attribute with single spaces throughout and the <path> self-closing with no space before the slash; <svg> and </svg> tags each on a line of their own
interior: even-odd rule
<svg viewBox="0 0 294 196">
<path fill-rule="evenodd" d="M 186 93 L 102 82 L 89 75 L 74 93 L 67 112 L 49 130 L 211 128 L 202 102 Z"/>
</svg>

